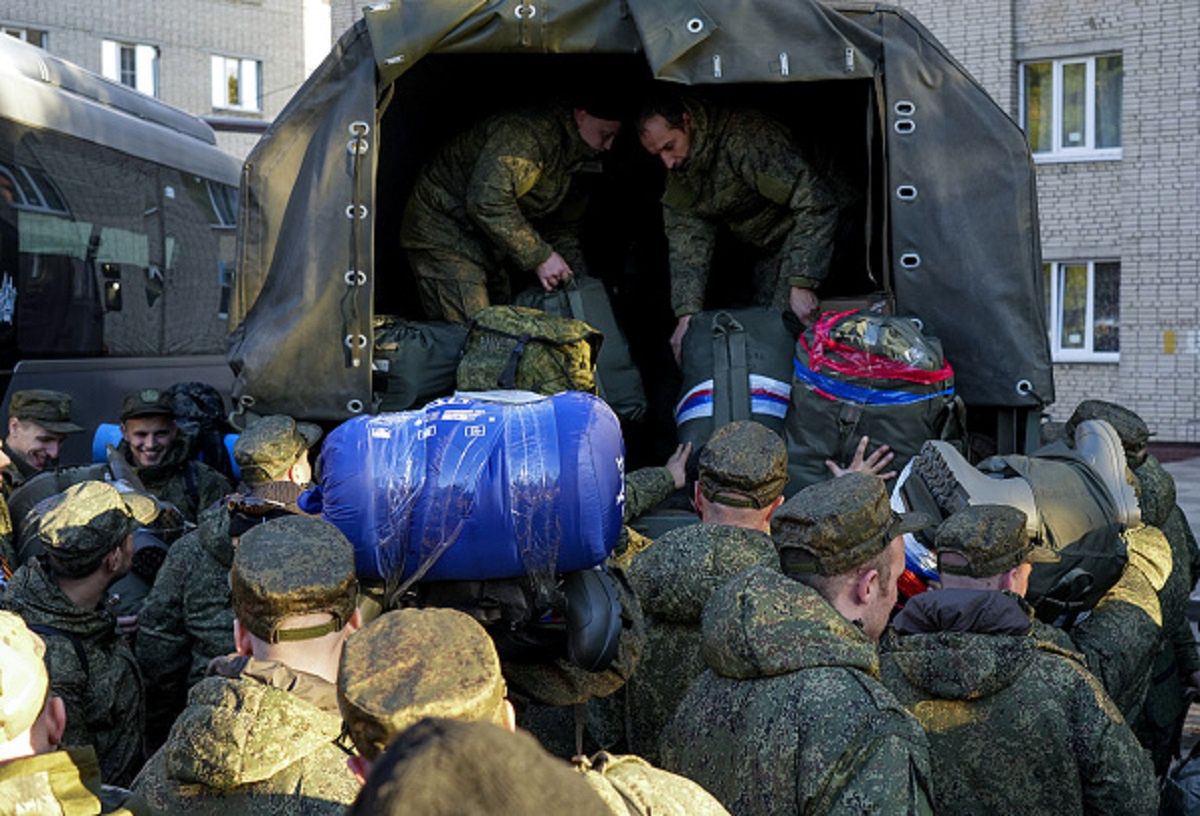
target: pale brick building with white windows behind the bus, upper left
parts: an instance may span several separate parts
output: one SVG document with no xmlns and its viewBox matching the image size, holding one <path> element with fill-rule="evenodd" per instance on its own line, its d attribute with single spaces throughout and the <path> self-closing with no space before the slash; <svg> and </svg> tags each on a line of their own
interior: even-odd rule
<svg viewBox="0 0 1200 816">
<path fill-rule="evenodd" d="M 316 4 L 325 7 L 328 29 L 328 0 Z M 191 114 L 253 125 L 270 122 L 307 76 L 304 25 L 311 5 L 7 0 L 0 29 Z M 217 140 L 240 157 L 258 133 L 217 127 Z"/>
</svg>

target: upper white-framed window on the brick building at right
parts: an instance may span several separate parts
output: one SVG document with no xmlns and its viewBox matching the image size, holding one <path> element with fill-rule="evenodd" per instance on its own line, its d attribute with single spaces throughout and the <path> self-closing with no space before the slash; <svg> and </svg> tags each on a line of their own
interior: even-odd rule
<svg viewBox="0 0 1200 816">
<path fill-rule="evenodd" d="M 1121 158 L 1121 54 L 1022 62 L 1020 72 L 1036 160 Z"/>
</svg>

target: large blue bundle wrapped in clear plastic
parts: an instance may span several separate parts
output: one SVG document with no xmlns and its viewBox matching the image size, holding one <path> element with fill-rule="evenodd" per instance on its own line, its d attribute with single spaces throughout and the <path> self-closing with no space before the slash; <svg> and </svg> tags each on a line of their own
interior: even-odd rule
<svg viewBox="0 0 1200 816">
<path fill-rule="evenodd" d="M 301 504 L 346 534 L 367 580 L 545 586 L 604 562 L 620 533 L 620 426 L 588 394 L 460 394 L 359 416 L 320 461 Z"/>
</svg>

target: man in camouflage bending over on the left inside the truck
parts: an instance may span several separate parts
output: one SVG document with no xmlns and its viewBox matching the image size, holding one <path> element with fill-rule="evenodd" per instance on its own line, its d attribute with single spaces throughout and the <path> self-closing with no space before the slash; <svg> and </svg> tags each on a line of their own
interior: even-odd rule
<svg viewBox="0 0 1200 816">
<path fill-rule="evenodd" d="M 452 139 L 421 169 L 400 241 L 432 319 L 467 323 L 509 300 L 505 265 L 550 292 L 582 272 L 576 176 L 620 130 L 607 101 L 503 113 Z M 574 190 L 572 190 L 574 187 Z"/>
</svg>

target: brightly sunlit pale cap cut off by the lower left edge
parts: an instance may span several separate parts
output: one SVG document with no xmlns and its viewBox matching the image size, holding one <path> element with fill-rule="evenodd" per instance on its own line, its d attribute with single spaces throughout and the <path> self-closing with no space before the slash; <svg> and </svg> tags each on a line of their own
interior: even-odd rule
<svg viewBox="0 0 1200 816">
<path fill-rule="evenodd" d="M 0 612 L 0 743 L 29 731 L 46 706 L 46 644 L 18 616 Z"/>
</svg>

